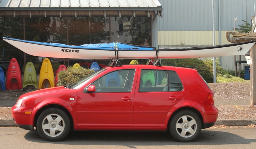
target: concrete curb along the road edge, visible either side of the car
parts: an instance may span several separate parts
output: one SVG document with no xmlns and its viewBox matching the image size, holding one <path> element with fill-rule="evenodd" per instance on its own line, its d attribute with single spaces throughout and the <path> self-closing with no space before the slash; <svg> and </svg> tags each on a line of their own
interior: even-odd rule
<svg viewBox="0 0 256 149">
<path fill-rule="evenodd" d="M 256 125 L 256 119 L 237 119 L 237 120 L 217 120 L 215 125 L 225 126 L 247 126 L 250 124 Z M 16 126 L 13 119 L 0 120 L 0 127 Z"/>
</svg>

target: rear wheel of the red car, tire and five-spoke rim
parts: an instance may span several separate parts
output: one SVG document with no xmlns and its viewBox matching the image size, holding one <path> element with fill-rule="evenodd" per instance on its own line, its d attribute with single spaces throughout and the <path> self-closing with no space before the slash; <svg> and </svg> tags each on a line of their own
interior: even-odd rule
<svg viewBox="0 0 256 149">
<path fill-rule="evenodd" d="M 180 142 L 192 142 L 201 132 L 200 118 L 190 110 L 180 111 L 171 119 L 170 132 Z"/>
</svg>

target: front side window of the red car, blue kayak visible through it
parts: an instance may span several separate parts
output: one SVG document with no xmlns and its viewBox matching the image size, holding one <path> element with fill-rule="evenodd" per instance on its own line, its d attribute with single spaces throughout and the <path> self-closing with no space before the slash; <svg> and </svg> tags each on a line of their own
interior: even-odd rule
<svg viewBox="0 0 256 149">
<path fill-rule="evenodd" d="M 131 92 L 135 70 L 108 73 L 92 83 L 96 92 Z"/>
</svg>

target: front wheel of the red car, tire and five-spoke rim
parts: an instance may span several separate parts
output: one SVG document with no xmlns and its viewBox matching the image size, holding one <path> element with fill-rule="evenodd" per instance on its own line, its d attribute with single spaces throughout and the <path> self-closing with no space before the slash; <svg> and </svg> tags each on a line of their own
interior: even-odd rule
<svg viewBox="0 0 256 149">
<path fill-rule="evenodd" d="M 69 129 L 70 120 L 67 114 L 58 108 L 46 109 L 37 120 L 37 131 L 47 141 L 61 141 Z"/>
</svg>

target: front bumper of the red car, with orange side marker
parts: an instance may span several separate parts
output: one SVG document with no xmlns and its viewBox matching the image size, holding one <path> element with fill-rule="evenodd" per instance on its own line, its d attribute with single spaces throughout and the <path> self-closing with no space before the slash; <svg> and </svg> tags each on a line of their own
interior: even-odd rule
<svg viewBox="0 0 256 149">
<path fill-rule="evenodd" d="M 35 107 L 12 107 L 12 117 L 17 126 L 26 130 L 34 130 Z"/>
</svg>

